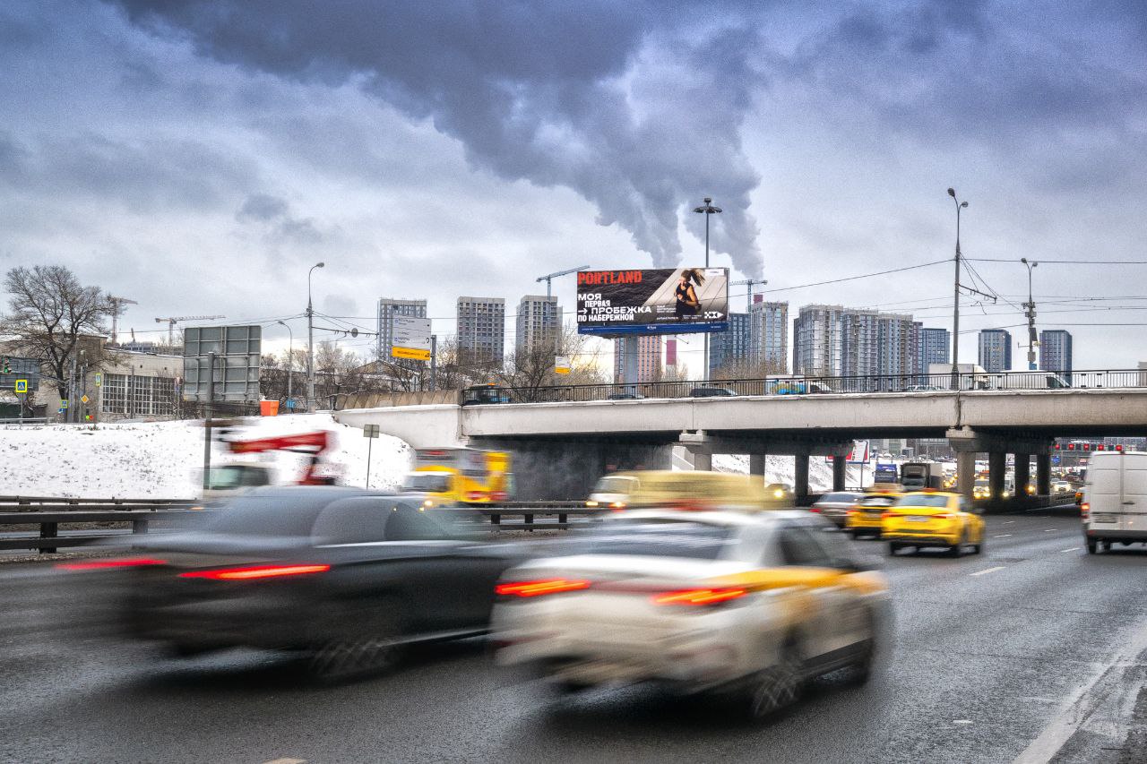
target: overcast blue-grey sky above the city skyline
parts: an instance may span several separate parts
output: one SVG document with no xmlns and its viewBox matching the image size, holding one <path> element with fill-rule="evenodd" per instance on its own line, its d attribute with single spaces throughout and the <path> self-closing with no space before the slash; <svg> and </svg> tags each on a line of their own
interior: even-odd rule
<svg viewBox="0 0 1147 764">
<path fill-rule="evenodd" d="M 325 260 L 318 311 L 373 330 L 426 297 L 446 335 L 459 295 L 512 314 L 553 271 L 701 264 L 709 195 L 713 265 L 793 315 L 951 327 L 954 186 L 962 281 L 1001 296 L 962 298 L 961 360 L 1025 340 L 1020 257 L 1076 368 L 1147 360 L 1147 265 L 1099 264 L 1147 260 L 1147 5 L 669 5 L 9 0 L 0 270 L 67 265 L 156 338 L 298 317 Z"/>
</svg>

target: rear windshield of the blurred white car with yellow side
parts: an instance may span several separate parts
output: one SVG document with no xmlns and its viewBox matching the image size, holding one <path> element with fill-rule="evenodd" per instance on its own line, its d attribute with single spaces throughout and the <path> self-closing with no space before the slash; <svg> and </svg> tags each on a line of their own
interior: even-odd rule
<svg viewBox="0 0 1147 764">
<path fill-rule="evenodd" d="M 632 554 L 657 558 L 716 560 L 735 544 L 726 525 L 681 521 L 618 521 L 586 539 L 588 554 Z"/>
</svg>

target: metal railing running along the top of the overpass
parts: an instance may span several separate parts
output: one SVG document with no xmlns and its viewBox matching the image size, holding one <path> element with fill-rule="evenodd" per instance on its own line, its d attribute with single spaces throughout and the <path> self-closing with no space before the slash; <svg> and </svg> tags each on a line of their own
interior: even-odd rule
<svg viewBox="0 0 1147 764">
<path fill-rule="evenodd" d="M 954 383 L 953 383 L 954 381 Z M 874 374 L 851 376 L 777 375 L 759 379 L 658 381 L 614 384 L 563 384 L 499 387 L 499 403 L 580 403 L 590 400 L 640 400 L 645 398 L 710 398 L 735 396 L 805 396 L 848 393 L 937 393 L 1000 390 L 1128 389 L 1147 388 L 1147 369 L 1094 369 L 1052 372 L 961 372 L 955 374 Z M 462 405 L 484 403 L 467 399 Z"/>
</svg>

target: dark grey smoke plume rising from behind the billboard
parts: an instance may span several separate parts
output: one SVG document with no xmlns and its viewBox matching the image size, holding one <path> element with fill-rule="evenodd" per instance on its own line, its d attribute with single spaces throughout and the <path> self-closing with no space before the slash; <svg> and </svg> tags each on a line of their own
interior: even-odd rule
<svg viewBox="0 0 1147 764">
<path fill-rule="evenodd" d="M 725 208 L 721 248 L 740 270 L 760 270 L 748 213 L 759 178 L 739 134 L 756 37 L 740 14 L 686 33 L 660 3 L 603 0 L 120 5 L 221 62 L 356 81 L 460 140 L 474 165 L 575 189 L 598 206 L 600 223 L 623 226 L 660 265 L 679 259 L 684 205 L 710 193 Z M 658 44 L 689 65 L 672 77 L 647 67 Z"/>
</svg>

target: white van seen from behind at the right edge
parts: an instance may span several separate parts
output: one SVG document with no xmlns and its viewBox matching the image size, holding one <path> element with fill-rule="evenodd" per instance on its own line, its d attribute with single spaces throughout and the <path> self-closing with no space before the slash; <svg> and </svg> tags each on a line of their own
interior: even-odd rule
<svg viewBox="0 0 1147 764">
<path fill-rule="evenodd" d="M 1092 554 L 1116 541 L 1147 543 L 1147 452 L 1091 454 L 1080 510 Z"/>
</svg>

